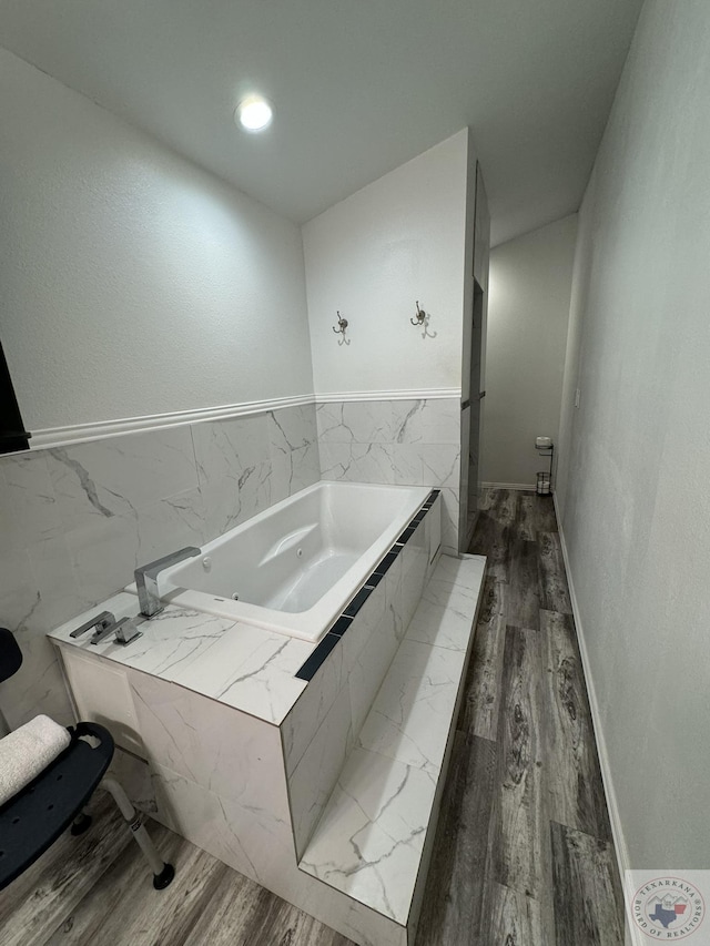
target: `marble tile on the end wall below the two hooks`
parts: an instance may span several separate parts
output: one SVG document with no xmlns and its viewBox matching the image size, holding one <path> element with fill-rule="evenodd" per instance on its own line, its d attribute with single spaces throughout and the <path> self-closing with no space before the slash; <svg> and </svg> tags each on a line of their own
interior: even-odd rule
<svg viewBox="0 0 710 946">
<path fill-rule="evenodd" d="M 323 479 L 442 489 L 442 541 L 458 555 L 460 397 L 316 406 Z"/>
</svg>

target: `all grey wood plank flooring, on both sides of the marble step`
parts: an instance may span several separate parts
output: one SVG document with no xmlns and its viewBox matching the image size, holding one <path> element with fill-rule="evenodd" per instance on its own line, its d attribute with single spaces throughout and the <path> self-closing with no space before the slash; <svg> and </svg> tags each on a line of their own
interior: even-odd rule
<svg viewBox="0 0 710 946">
<path fill-rule="evenodd" d="M 489 557 L 417 946 L 621 946 L 622 904 L 551 501 L 489 490 Z M 152 824 L 151 886 L 108 796 L 0 894 L 2 946 L 352 946 Z M 100 830 L 99 830 L 100 823 Z"/>
</svg>

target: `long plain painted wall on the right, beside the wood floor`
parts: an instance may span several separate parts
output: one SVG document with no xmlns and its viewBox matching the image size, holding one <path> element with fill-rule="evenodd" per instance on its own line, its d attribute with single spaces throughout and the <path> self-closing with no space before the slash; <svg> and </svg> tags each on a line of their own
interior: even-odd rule
<svg viewBox="0 0 710 946">
<path fill-rule="evenodd" d="M 706 0 L 647 0 L 580 211 L 558 496 L 630 862 L 677 872 L 709 846 L 709 50 Z"/>
</svg>

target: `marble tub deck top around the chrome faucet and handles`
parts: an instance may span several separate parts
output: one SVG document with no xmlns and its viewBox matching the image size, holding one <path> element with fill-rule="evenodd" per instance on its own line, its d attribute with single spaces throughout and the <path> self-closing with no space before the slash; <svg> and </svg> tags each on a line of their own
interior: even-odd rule
<svg viewBox="0 0 710 946">
<path fill-rule="evenodd" d="M 122 591 L 49 637 L 62 647 L 159 677 L 273 725 L 284 721 L 306 688 L 295 674 L 315 648 L 310 641 L 173 604 L 141 624 L 143 637 L 126 647 L 112 638 L 92 644 L 90 632 L 70 637 L 103 610 L 116 620 L 135 617 L 138 598 Z"/>
</svg>

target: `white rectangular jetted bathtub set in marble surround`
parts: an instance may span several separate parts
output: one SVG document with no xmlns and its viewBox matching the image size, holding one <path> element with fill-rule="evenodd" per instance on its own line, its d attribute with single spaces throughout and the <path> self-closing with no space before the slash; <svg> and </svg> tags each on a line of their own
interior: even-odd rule
<svg viewBox="0 0 710 946">
<path fill-rule="evenodd" d="M 428 495 L 416 486 L 317 482 L 165 569 L 161 597 L 317 641 Z"/>
</svg>

